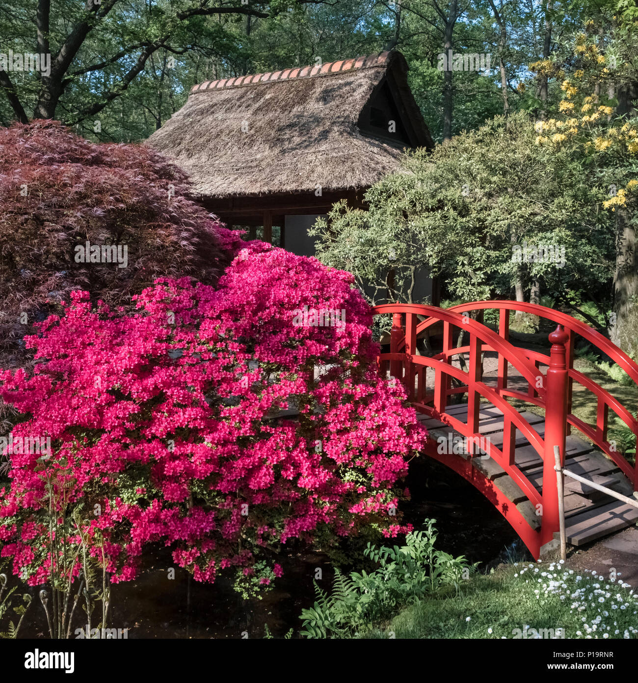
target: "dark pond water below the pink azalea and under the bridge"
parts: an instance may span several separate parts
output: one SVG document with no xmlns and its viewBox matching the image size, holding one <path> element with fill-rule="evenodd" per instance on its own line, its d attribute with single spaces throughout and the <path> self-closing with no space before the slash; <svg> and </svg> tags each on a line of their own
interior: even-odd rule
<svg viewBox="0 0 638 683">
<path fill-rule="evenodd" d="M 464 479 L 424 456 L 410 467 L 412 500 L 403 505 L 405 518 L 415 527 L 425 518 L 435 518 L 437 548 L 479 561 L 482 570 L 504 559 L 506 548 L 521 552 L 508 523 Z M 274 637 L 283 637 L 291 628 L 296 636 L 302 609 L 314 602 L 315 570 L 321 568 L 323 576 L 318 583 L 327 590 L 333 572 L 328 558 L 319 553 L 292 552 L 278 561 L 285 574 L 276 588 L 261 600 L 243 600 L 224 579 L 203 585 L 175 568 L 175 579 L 169 580 L 166 570 L 173 567 L 171 555 L 163 548 L 156 550 L 149 553 L 139 579 L 111 587 L 111 626 L 128 628 L 130 639 L 263 638 L 266 626 Z M 46 633 L 39 600 L 31 607 L 25 626 L 23 637 Z"/>
</svg>

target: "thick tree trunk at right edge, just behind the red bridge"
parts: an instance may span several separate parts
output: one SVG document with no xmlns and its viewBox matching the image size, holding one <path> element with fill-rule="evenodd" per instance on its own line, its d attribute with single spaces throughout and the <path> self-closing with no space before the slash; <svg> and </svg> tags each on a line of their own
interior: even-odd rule
<svg viewBox="0 0 638 683">
<path fill-rule="evenodd" d="M 616 209 L 616 268 L 613 277 L 615 324 L 609 329 L 611 341 L 626 354 L 638 359 L 638 259 L 636 228 L 631 211 Z"/>
</svg>

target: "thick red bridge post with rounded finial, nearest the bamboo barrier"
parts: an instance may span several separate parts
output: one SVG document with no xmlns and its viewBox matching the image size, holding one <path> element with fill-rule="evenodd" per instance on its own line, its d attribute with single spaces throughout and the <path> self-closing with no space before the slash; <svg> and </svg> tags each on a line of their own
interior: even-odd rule
<svg viewBox="0 0 638 683">
<path fill-rule="evenodd" d="M 549 335 L 551 351 L 547 368 L 545 400 L 545 452 L 542 467 L 542 527 L 541 546 L 553 540 L 558 531 L 558 487 L 556 482 L 554 446 L 560 449 L 561 465 L 565 462 L 567 434 L 568 370 L 565 344 L 569 335 L 559 325 Z M 541 548 L 542 550 L 542 548 Z"/>
</svg>

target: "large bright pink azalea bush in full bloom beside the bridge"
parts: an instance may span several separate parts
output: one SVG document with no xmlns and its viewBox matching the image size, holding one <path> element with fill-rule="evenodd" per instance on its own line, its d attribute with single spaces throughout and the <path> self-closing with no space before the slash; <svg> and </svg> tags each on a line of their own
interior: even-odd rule
<svg viewBox="0 0 638 683">
<path fill-rule="evenodd" d="M 0 372 L 1 398 L 23 415 L 14 439 L 51 443 L 44 460 L 14 452 L 0 490 L 0 555 L 30 585 L 50 572 L 50 502 L 58 519 L 81 510 L 113 581 L 133 579 L 160 542 L 197 581 L 229 570 L 267 586 L 289 542 L 411 528 L 395 513 L 398 481 L 426 433 L 403 388 L 379 377 L 353 277 L 219 239 L 243 248 L 217 288 L 158 279 L 132 314 L 72 292 L 27 338 L 32 376 Z M 293 324 L 306 305 L 345 309 L 345 326 Z M 277 416 L 287 408 L 298 416 Z"/>
</svg>

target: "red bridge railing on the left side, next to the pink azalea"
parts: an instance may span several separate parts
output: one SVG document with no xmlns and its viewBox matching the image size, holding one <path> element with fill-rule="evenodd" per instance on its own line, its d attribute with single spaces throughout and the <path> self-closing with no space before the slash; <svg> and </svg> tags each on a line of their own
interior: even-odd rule
<svg viewBox="0 0 638 683">
<path fill-rule="evenodd" d="M 456 311 L 439 309 L 431 306 L 421 305 L 381 305 L 375 307 L 375 313 L 392 313 L 393 325 L 390 332 L 390 352 L 382 353 L 379 356 L 381 374 L 390 374 L 401 380 L 411 403 L 421 413 L 440 419 L 447 423 L 456 432 L 467 440 L 467 456 L 475 458 L 478 456 L 480 448 L 478 445 L 486 444 L 482 447 L 489 458 L 497 462 L 502 469 L 510 475 L 512 480 L 521 488 L 529 501 L 538 510 L 549 510 L 551 503 L 545 501 L 549 490 L 538 491 L 534 482 L 527 478 L 527 475 L 519 468 L 515 459 L 517 430 L 525 436 L 527 441 L 536 450 L 538 456 L 545 462 L 545 440 L 528 423 L 521 413 L 508 403 L 506 398 L 494 388 L 489 387 L 482 381 L 482 352 L 489 348 L 503 355 L 508 362 L 517 368 L 525 380 L 536 388 L 536 393 L 542 401 L 545 401 L 546 385 L 545 375 L 538 370 L 534 362 L 527 359 L 523 350 L 512 346 L 506 339 L 499 337 L 497 333 L 486 326 L 471 320 L 467 316 L 461 316 Z M 403 326 L 403 316 L 405 316 L 405 329 Z M 423 356 L 416 352 L 416 339 L 418 334 L 418 316 L 427 316 L 427 320 L 441 321 L 444 325 L 444 348 L 442 352 L 433 356 Z M 426 320 L 426 322 L 427 322 Z M 462 348 L 452 346 L 453 331 L 455 328 L 464 329 L 469 332 L 469 359 L 467 369 L 454 365 L 454 357 L 464 352 Z M 428 388 L 426 374 L 433 373 L 432 389 Z M 452 387 L 452 380 L 459 383 L 459 387 Z M 467 392 L 467 420 L 464 422 L 454 414 L 448 399 L 453 393 Z M 488 439 L 483 440 L 480 434 L 480 402 L 481 398 L 491 402 L 502 413 L 503 419 L 503 443 L 497 447 Z M 557 442 L 557 443 L 560 443 Z M 561 452 L 564 453 L 564 439 Z M 430 454 L 436 457 L 430 451 Z M 553 452 L 551 456 L 553 467 Z M 441 458 L 439 458 L 441 459 Z M 442 459 L 446 464 L 452 463 L 452 458 Z M 555 476 L 554 486 L 555 486 Z M 550 486 L 551 488 L 551 486 Z M 498 497 L 498 493 L 492 490 Z M 538 532 L 524 520 L 517 508 L 509 501 L 502 501 L 501 512 L 517 525 L 517 531 L 523 538 L 527 547 L 538 557 L 540 540 L 545 535 L 553 533 L 545 520 L 549 516 L 543 516 L 545 531 L 539 535 Z M 512 521 L 513 519 L 513 521 Z M 557 527 L 556 527 L 557 528 Z M 546 532 L 546 533 L 545 533 Z M 540 540 L 539 540 L 540 538 Z M 545 542 L 545 541 L 542 541 Z"/>
</svg>

